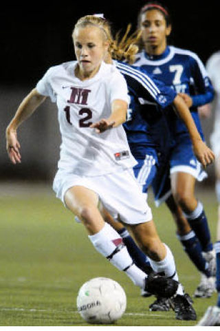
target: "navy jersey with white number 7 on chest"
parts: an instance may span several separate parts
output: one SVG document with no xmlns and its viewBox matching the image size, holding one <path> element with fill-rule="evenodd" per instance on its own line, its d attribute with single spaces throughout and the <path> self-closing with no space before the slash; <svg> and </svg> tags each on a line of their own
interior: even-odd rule
<svg viewBox="0 0 220 331">
<path fill-rule="evenodd" d="M 167 46 L 160 55 L 150 55 L 142 51 L 137 54 L 135 64 L 146 70 L 165 85 L 175 89 L 177 93 L 185 93 L 192 98 L 192 117 L 201 136 L 202 129 L 197 107 L 210 103 L 214 97 L 214 89 L 206 69 L 197 54 L 181 48 Z M 186 132 L 184 123 L 175 116 L 174 134 Z"/>
</svg>

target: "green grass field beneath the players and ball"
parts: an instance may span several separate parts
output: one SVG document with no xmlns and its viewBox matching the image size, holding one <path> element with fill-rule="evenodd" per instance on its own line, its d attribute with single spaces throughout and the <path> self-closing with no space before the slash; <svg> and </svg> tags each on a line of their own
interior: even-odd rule
<svg viewBox="0 0 220 331">
<path fill-rule="evenodd" d="M 13 191 L 13 186 L 12 186 Z M 150 312 L 155 299 L 140 297 L 124 273 L 116 270 L 94 250 L 81 224 L 51 191 L 0 193 L 0 325 L 84 325 L 76 311 L 76 296 L 83 283 L 93 277 L 118 281 L 127 296 L 126 312 L 114 325 L 195 325 L 177 321 L 173 311 Z M 32 187 L 32 192 L 35 191 Z M 203 191 L 203 193 L 201 192 Z M 201 189 L 198 197 L 206 208 L 213 241 L 217 220 L 214 189 Z M 166 206 L 156 209 L 149 197 L 157 229 L 173 250 L 179 279 L 190 295 L 199 283 L 199 273 L 175 237 L 175 226 Z M 195 299 L 198 319 L 217 300 Z"/>
</svg>

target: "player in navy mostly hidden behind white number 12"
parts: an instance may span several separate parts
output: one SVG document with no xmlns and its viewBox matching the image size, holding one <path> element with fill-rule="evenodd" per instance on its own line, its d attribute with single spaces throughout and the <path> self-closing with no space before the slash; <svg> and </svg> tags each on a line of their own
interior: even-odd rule
<svg viewBox="0 0 220 331">
<path fill-rule="evenodd" d="M 144 193 L 147 193 L 148 186 L 150 186 L 155 177 L 157 169 L 159 169 L 166 160 L 171 146 L 172 137 L 170 136 L 164 112 L 173 112 L 176 109 L 179 116 L 186 123 L 188 130 L 192 132 L 188 126 L 187 113 L 188 115 L 190 113 L 188 112 L 188 107 L 186 107 L 181 97 L 177 96 L 174 89 L 166 87 L 163 83 L 159 83 L 159 81 L 153 81 L 150 76 L 137 70 L 135 67 L 131 67 L 119 61 L 115 62 L 115 65 L 124 75 L 129 87 L 131 109 L 129 111 L 129 118 L 126 123 L 124 123 L 124 129 L 126 130 L 133 156 L 135 156 L 138 162 L 133 168 L 135 177 L 140 186 L 142 186 Z M 168 107 L 170 108 L 168 109 Z M 195 131 L 197 131 L 193 120 L 192 123 Z M 192 144 L 195 145 L 192 136 Z M 199 139 L 201 140 L 200 136 Z M 203 144 L 202 140 L 201 144 Z M 198 157 L 196 150 L 195 154 Z M 201 162 L 204 164 L 204 160 L 201 160 Z M 120 224 L 114 223 L 111 219 L 111 215 L 108 213 L 104 211 L 103 213 L 105 220 L 110 222 L 118 233 L 120 233 L 127 248 L 130 248 L 129 253 L 135 260 L 135 264 L 142 268 L 146 262 L 144 261 L 142 264 L 141 261 L 139 261 L 138 263 L 137 257 L 140 258 L 141 253 L 138 252 L 137 246 L 132 243 L 131 237 L 126 235 L 126 228 L 123 228 Z M 124 235 L 126 235 L 126 237 L 124 237 Z M 128 238 L 129 242 L 127 242 Z M 159 270 L 157 270 L 157 272 L 159 272 Z M 170 275 L 170 277 L 174 276 L 175 274 Z M 190 301 L 190 297 L 187 294 L 179 295 L 173 299 L 173 307 L 177 319 L 195 319 L 195 312 L 193 311 L 191 303 L 192 301 Z"/>
</svg>

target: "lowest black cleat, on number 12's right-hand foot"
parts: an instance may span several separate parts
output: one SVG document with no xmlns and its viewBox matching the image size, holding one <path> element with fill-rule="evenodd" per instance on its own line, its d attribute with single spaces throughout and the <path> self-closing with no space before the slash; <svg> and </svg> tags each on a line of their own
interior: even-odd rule
<svg viewBox="0 0 220 331">
<path fill-rule="evenodd" d="M 170 301 L 171 305 L 173 305 L 176 319 L 183 321 L 195 321 L 197 319 L 197 314 L 192 307 L 192 299 L 187 293 L 185 295 L 176 295 Z"/>
</svg>

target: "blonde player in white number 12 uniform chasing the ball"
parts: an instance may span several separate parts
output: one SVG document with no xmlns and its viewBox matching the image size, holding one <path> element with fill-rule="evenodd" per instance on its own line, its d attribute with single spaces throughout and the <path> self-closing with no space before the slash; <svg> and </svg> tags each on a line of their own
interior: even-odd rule
<svg viewBox="0 0 220 331">
<path fill-rule="evenodd" d="M 175 274 L 173 254 L 159 239 L 151 209 L 133 175 L 135 160 L 122 128 L 129 103 L 127 87 L 120 72 L 102 61 L 112 46 L 105 24 L 94 16 L 78 20 L 73 32 L 77 61 L 50 68 L 23 100 L 7 128 L 8 155 L 14 164 L 21 162 L 17 128 L 49 96 L 58 106 L 62 136 L 56 196 L 83 222 L 96 250 L 135 285 L 170 297 L 183 290 L 176 280 L 168 279 Z M 202 154 L 212 162 L 208 148 Z M 104 222 L 99 200 L 131 226 L 155 272 L 166 277 L 147 277 L 133 264 L 120 235 Z"/>
</svg>

